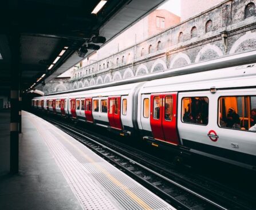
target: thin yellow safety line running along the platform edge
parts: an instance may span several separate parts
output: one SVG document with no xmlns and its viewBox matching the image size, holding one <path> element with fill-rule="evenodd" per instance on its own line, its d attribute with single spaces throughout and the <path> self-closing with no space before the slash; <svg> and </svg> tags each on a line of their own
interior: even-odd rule
<svg viewBox="0 0 256 210">
<path fill-rule="evenodd" d="M 43 121 L 45 125 L 47 125 L 45 123 L 45 121 Z M 37 129 L 38 130 L 38 129 Z M 39 130 L 38 130 L 39 131 Z M 41 133 L 41 132 L 40 132 Z M 75 144 L 73 144 L 70 140 L 68 140 L 62 133 L 59 132 L 59 130 L 57 131 L 58 134 L 60 134 L 60 136 L 62 136 L 66 142 L 68 142 L 70 145 L 72 145 L 74 148 L 76 148 L 78 150 L 78 152 L 85 157 L 85 159 L 87 159 L 91 164 L 93 164 L 97 169 L 99 169 L 99 171 L 103 172 L 104 175 L 106 175 L 109 180 L 112 181 L 112 183 L 116 184 L 118 187 L 120 187 L 121 189 L 123 189 L 123 191 L 125 193 L 127 193 L 127 195 L 129 197 L 131 197 L 133 200 L 135 200 L 137 202 L 137 204 L 139 204 L 142 208 L 147 209 L 147 210 L 153 210 L 151 207 L 149 207 L 149 205 L 147 203 L 145 203 L 143 200 L 140 199 L 140 197 L 138 197 L 135 193 L 133 193 L 131 190 L 129 190 L 125 185 L 123 185 L 122 183 L 120 183 L 119 180 L 117 180 L 115 177 L 113 177 L 108 171 L 106 171 L 103 167 L 101 167 L 101 165 L 99 165 L 98 163 L 95 163 L 93 161 L 93 159 L 91 159 L 89 156 L 87 156 L 80 148 L 78 148 Z M 41 135 L 42 136 L 42 135 Z M 44 137 L 44 136 L 43 136 Z"/>
</svg>

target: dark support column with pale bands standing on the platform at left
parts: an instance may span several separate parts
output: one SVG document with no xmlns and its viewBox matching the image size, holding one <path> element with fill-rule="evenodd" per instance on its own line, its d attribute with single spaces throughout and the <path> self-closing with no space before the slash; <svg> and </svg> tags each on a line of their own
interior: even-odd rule
<svg viewBox="0 0 256 210">
<path fill-rule="evenodd" d="M 10 124 L 10 172 L 19 169 L 19 35 L 9 36 L 11 51 L 11 124 Z"/>
</svg>

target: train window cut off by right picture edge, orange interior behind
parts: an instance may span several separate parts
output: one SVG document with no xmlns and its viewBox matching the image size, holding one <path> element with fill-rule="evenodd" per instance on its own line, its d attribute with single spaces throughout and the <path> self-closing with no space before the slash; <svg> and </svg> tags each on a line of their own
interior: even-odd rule
<svg viewBox="0 0 256 210">
<path fill-rule="evenodd" d="M 256 96 L 220 97 L 218 125 L 222 128 L 256 131 Z"/>
</svg>

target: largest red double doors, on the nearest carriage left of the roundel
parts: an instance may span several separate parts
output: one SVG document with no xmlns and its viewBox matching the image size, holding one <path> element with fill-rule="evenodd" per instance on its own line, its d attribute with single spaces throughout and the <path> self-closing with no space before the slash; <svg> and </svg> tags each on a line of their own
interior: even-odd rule
<svg viewBox="0 0 256 210">
<path fill-rule="evenodd" d="M 150 116 L 153 137 L 174 145 L 179 144 L 176 97 L 177 93 L 152 94 Z"/>
</svg>

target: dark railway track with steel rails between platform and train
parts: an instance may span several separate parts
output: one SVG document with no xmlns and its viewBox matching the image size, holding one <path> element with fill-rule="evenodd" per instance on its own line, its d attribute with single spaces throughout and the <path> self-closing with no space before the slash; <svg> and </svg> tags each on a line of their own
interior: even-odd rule
<svg viewBox="0 0 256 210">
<path fill-rule="evenodd" d="M 170 169 L 169 163 L 152 157 L 120 142 L 104 140 L 107 137 L 82 132 L 79 128 L 47 118 L 64 132 L 76 138 L 121 171 L 136 179 L 145 187 L 177 209 L 255 209 L 250 199 L 218 183 L 208 181 L 202 185 L 200 177 L 188 178 Z M 202 179 L 202 177 L 201 177 Z M 200 184 L 197 184 L 200 183 Z M 238 195 L 235 196 L 234 195 Z M 229 196 L 226 196 L 229 195 Z"/>
</svg>

